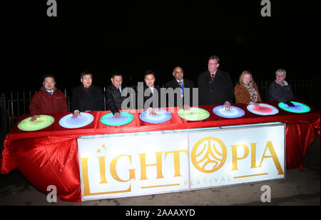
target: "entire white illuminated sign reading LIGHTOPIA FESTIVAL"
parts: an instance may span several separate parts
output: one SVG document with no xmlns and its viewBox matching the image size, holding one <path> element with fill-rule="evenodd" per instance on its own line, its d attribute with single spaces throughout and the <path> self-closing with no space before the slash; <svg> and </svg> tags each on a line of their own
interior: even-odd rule
<svg viewBox="0 0 321 220">
<path fill-rule="evenodd" d="M 285 178 L 285 125 L 78 139 L 82 200 Z"/>
</svg>

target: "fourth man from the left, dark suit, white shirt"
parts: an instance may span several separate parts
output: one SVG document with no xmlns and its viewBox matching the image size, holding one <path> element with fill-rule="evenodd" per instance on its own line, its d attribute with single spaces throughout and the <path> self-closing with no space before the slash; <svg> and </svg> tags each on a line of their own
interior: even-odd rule
<svg viewBox="0 0 321 220">
<path fill-rule="evenodd" d="M 155 108 L 161 107 L 161 89 L 155 85 L 156 74 L 147 70 L 144 74 L 145 85 L 143 87 L 143 104 L 151 115 L 156 115 Z"/>
</svg>

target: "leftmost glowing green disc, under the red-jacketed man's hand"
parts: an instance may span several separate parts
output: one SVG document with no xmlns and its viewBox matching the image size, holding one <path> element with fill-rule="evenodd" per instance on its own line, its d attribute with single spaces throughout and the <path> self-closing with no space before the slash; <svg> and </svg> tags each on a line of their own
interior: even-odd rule
<svg viewBox="0 0 321 220">
<path fill-rule="evenodd" d="M 55 121 L 53 116 L 44 114 L 39 116 L 40 118 L 36 119 L 36 121 L 30 121 L 31 117 L 20 121 L 18 124 L 18 129 L 21 131 L 37 131 L 51 126 L 51 124 L 53 124 Z"/>
</svg>

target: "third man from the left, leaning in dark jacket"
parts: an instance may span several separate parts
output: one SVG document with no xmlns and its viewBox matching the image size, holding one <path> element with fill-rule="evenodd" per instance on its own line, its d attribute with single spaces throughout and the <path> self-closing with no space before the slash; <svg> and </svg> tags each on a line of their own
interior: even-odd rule
<svg viewBox="0 0 321 220">
<path fill-rule="evenodd" d="M 111 75 L 111 85 L 107 87 L 106 94 L 106 107 L 113 113 L 113 116 L 121 116 L 121 104 L 126 99 L 125 96 L 121 96 L 123 84 L 123 76 L 120 72 L 113 72 Z"/>
</svg>

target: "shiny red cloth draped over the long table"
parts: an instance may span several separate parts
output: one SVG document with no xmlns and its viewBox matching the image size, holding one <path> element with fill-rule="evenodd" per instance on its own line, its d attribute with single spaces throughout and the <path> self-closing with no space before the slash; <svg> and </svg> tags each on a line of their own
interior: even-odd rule
<svg viewBox="0 0 321 220">
<path fill-rule="evenodd" d="M 302 102 L 302 101 L 301 101 Z M 119 134 L 141 131 L 163 131 L 173 129 L 195 129 L 215 126 L 233 126 L 240 124 L 258 124 L 279 121 L 286 124 L 286 168 L 302 169 L 302 161 L 312 141 L 320 136 L 320 111 L 312 109 L 309 113 L 294 114 L 284 111 L 277 102 L 267 101 L 275 106 L 279 113 L 272 116 L 259 116 L 246 109 L 246 104 L 233 104 L 245 111 L 238 119 L 226 119 L 213 114 L 215 106 L 199 106 L 210 112 L 210 117 L 203 121 L 186 121 L 177 114 L 176 108 L 167 109 L 173 117 L 162 124 L 148 124 L 139 119 L 142 111 L 128 111 L 133 114 L 131 123 L 123 126 L 106 126 L 101 123 L 101 116 L 110 111 L 91 111 L 94 120 L 80 129 L 65 129 L 59 125 L 59 119 L 66 114 L 54 116 L 54 124 L 39 131 L 21 131 L 17 125 L 30 115 L 23 115 L 11 129 L 4 141 L 1 155 L 0 173 L 8 174 L 18 169 L 30 183 L 48 194 L 47 186 L 57 188 L 61 201 L 81 201 L 81 183 L 78 163 L 79 136 L 98 134 Z"/>
</svg>

